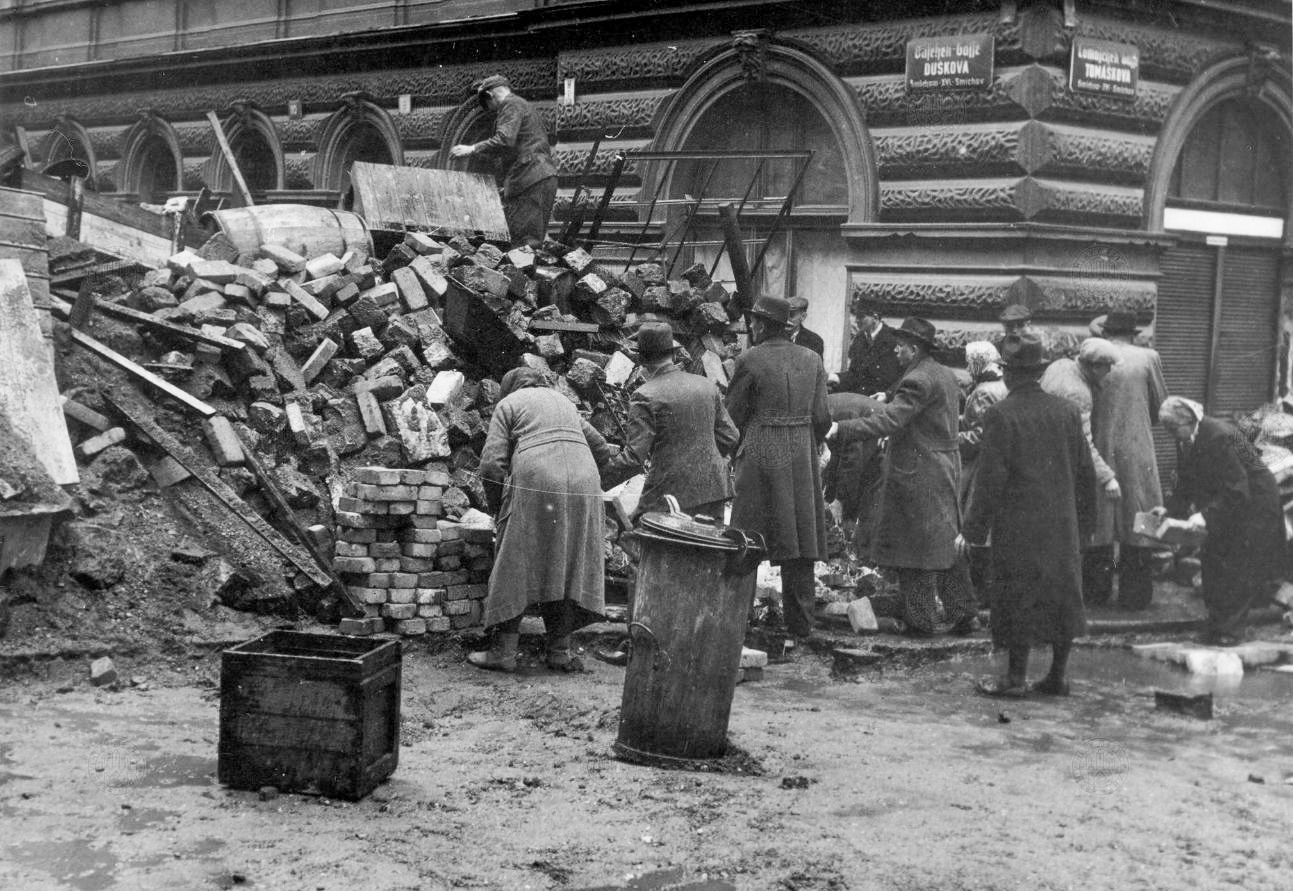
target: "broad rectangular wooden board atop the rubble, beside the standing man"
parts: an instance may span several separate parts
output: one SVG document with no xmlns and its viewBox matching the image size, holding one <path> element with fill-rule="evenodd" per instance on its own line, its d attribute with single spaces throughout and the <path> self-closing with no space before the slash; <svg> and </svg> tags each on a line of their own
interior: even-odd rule
<svg viewBox="0 0 1293 891">
<path fill-rule="evenodd" d="M 438 231 L 509 242 L 493 176 L 462 171 L 393 167 L 357 160 L 350 168 L 354 212 L 370 229 Z"/>
</svg>

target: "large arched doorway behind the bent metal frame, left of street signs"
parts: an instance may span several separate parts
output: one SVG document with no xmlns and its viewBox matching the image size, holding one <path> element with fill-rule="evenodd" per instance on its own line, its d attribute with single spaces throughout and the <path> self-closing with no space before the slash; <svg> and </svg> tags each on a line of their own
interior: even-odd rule
<svg viewBox="0 0 1293 891">
<path fill-rule="evenodd" d="M 826 367 L 838 370 L 848 339 L 848 248 L 846 222 L 864 222 L 878 204 L 874 150 L 856 96 L 818 59 L 789 44 L 740 39 L 714 56 L 663 110 L 657 128 L 659 149 L 738 153 L 808 150 L 789 215 L 768 243 L 756 290 L 760 295 L 808 300 L 806 325 L 825 341 Z M 643 198 L 667 178 L 662 197 L 702 198 L 688 241 L 688 257 L 714 265 L 721 242 L 718 206 L 740 204 L 742 235 L 753 263 L 791 189 L 803 162 L 793 159 L 712 158 L 658 162 L 643 172 Z M 671 221 L 685 213 L 671 207 Z M 672 226 L 680 237 L 679 226 Z M 666 233 L 670 228 L 666 226 Z M 670 252 L 671 256 L 671 252 Z M 715 278 L 731 281 L 725 256 Z M 759 295 L 755 295 L 759 296 Z"/>
</svg>

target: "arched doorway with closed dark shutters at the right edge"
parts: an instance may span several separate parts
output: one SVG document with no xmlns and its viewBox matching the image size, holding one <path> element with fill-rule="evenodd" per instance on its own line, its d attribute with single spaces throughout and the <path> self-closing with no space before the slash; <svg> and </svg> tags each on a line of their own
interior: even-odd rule
<svg viewBox="0 0 1293 891">
<path fill-rule="evenodd" d="M 1288 389 L 1280 305 L 1293 127 L 1287 92 L 1254 74 L 1249 59 L 1231 59 L 1183 91 L 1147 190 L 1149 224 L 1179 239 L 1160 263 L 1155 348 L 1168 388 L 1214 415 Z M 1174 464 L 1165 438 L 1160 464 Z"/>
</svg>

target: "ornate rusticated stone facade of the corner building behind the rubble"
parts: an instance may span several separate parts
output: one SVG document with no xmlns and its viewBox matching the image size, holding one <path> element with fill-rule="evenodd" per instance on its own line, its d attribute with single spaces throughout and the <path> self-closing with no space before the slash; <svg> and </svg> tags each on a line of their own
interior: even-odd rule
<svg viewBox="0 0 1293 891">
<path fill-rule="evenodd" d="M 1131 309 L 1210 413 L 1293 380 L 1284 1 L 10 0 L 0 34 L 0 141 L 84 158 L 105 194 L 230 194 L 216 111 L 257 200 L 336 206 L 353 160 L 450 167 L 487 132 L 469 88 L 497 71 L 555 136 L 553 228 L 617 153 L 700 153 L 630 155 L 606 256 L 663 242 L 723 278 L 718 206 L 743 202 L 753 263 L 794 191 L 759 290 L 809 299 L 829 369 L 866 294 L 950 348 L 1012 303 L 1073 335 Z M 958 40 L 983 48 L 974 76 L 922 81 L 913 56 L 961 50 L 913 47 Z"/>
</svg>

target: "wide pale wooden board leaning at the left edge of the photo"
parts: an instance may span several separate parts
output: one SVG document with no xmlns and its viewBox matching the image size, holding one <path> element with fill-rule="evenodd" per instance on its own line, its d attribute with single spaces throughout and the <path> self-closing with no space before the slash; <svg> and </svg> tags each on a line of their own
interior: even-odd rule
<svg viewBox="0 0 1293 891">
<path fill-rule="evenodd" d="M 40 331 L 18 260 L 0 260 L 0 410 L 28 440 L 56 484 L 76 482 L 80 477 L 54 379 L 54 352 Z"/>
</svg>

